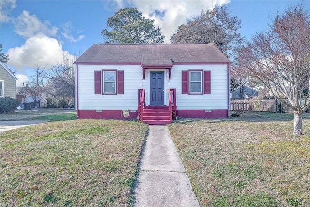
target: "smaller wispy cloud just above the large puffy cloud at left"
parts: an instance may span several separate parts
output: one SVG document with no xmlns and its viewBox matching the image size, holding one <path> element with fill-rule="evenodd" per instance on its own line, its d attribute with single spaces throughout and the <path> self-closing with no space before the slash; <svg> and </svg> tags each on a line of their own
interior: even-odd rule
<svg viewBox="0 0 310 207">
<path fill-rule="evenodd" d="M 58 28 L 51 26 L 49 21 L 41 21 L 35 15 L 30 15 L 28 11 L 23 11 L 14 20 L 15 32 L 24 38 L 32 37 L 43 33 L 47 36 L 56 36 Z"/>
</svg>

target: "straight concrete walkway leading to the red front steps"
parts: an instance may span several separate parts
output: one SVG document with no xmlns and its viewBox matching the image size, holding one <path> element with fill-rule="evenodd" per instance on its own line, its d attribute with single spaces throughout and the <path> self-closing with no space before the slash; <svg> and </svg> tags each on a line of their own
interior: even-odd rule
<svg viewBox="0 0 310 207">
<path fill-rule="evenodd" d="M 150 125 L 135 207 L 199 207 L 166 125 Z"/>
</svg>

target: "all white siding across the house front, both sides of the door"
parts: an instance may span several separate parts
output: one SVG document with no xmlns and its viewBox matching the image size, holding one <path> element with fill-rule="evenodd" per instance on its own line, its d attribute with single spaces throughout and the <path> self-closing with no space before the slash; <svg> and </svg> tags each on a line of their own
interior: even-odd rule
<svg viewBox="0 0 310 207">
<path fill-rule="evenodd" d="M 124 94 L 94 94 L 94 71 L 102 69 L 124 70 Z M 211 71 L 211 94 L 181 94 L 181 71 L 188 69 Z M 78 65 L 79 109 L 137 109 L 139 88 L 146 89 L 145 99 L 146 105 L 148 105 L 150 71 L 165 71 L 166 105 L 168 105 L 168 88 L 175 88 L 177 109 L 228 109 L 227 65 L 174 65 L 172 67 L 171 80 L 166 78 L 168 70 L 146 70 L 145 80 L 143 80 L 140 65 Z"/>
</svg>

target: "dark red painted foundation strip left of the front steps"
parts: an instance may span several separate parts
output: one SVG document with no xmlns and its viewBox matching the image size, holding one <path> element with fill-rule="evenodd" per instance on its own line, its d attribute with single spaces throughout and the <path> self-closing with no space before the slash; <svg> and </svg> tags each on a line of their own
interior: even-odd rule
<svg viewBox="0 0 310 207">
<path fill-rule="evenodd" d="M 129 112 L 128 117 L 123 116 L 122 110 L 102 110 L 96 112 L 96 110 L 79 110 L 79 118 L 81 119 L 136 119 L 138 111 Z"/>
</svg>

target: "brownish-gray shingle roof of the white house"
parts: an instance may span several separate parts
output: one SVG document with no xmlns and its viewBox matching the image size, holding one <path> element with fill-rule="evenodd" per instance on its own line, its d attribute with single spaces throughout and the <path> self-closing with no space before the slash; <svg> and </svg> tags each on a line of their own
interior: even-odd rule
<svg viewBox="0 0 310 207">
<path fill-rule="evenodd" d="M 93 44 L 75 64 L 228 64 L 213 44 Z"/>
</svg>

